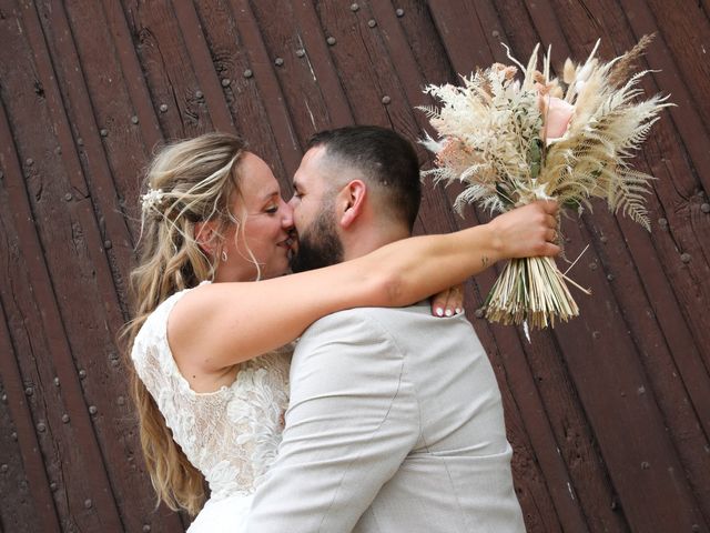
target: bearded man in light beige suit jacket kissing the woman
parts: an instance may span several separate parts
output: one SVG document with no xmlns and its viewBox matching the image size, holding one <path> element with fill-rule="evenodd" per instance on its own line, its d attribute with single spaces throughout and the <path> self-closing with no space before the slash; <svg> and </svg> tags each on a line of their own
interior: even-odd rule
<svg viewBox="0 0 710 533">
<path fill-rule="evenodd" d="M 316 134 L 294 177 L 295 271 L 410 234 L 416 153 L 394 131 Z M 486 353 L 463 314 L 428 302 L 325 316 L 293 356 L 278 457 L 246 531 L 524 532 Z"/>
</svg>

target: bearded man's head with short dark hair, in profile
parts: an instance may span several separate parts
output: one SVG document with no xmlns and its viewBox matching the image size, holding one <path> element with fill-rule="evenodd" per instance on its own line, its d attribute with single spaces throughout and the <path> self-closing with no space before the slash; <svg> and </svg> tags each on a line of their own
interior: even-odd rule
<svg viewBox="0 0 710 533">
<path fill-rule="evenodd" d="M 374 125 L 316 133 L 293 184 L 295 272 L 354 259 L 408 237 L 422 199 L 412 143 Z"/>
</svg>

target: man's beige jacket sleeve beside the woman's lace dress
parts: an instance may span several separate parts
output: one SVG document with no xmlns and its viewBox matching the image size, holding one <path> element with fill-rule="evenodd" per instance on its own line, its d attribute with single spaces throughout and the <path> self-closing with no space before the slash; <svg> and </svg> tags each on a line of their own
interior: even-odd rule
<svg viewBox="0 0 710 533">
<path fill-rule="evenodd" d="M 416 443 L 404 356 L 368 312 L 326 316 L 301 339 L 278 457 L 245 531 L 352 531 Z"/>
</svg>

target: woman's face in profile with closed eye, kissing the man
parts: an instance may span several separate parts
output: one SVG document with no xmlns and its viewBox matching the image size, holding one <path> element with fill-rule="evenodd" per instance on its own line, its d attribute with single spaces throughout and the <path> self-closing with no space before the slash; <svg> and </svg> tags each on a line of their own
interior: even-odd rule
<svg viewBox="0 0 710 533">
<path fill-rule="evenodd" d="M 240 162 L 240 194 L 232 213 L 239 220 L 224 235 L 226 261 L 220 260 L 219 281 L 252 281 L 288 271 L 293 211 L 281 198 L 278 182 L 268 165 L 247 152 Z M 256 264 L 258 263 L 258 269 Z"/>
</svg>

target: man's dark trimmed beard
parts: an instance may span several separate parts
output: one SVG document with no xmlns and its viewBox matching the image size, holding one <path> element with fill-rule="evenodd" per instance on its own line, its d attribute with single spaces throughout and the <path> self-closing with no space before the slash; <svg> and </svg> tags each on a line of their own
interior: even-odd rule
<svg viewBox="0 0 710 533">
<path fill-rule="evenodd" d="M 291 261 L 293 272 L 343 262 L 343 243 L 335 231 L 333 205 L 326 207 L 311 227 L 298 235 L 298 252 Z"/>
</svg>

